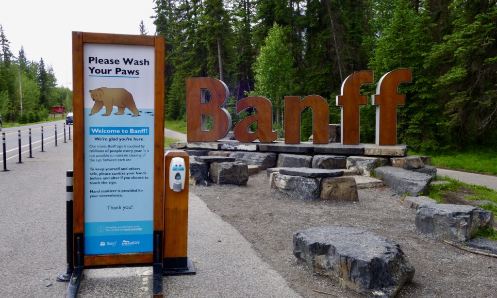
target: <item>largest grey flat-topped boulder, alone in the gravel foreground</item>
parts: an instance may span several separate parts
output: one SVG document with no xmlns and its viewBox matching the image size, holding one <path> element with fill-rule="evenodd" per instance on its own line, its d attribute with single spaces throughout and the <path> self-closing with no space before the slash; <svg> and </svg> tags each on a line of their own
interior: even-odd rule
<svg viewBox="0 0 497 298">
<path fill-rule="evenodd" d="M 352 227 L 297 231 L 293 254 L 318 274 L 367 297 L 395 297 L 414 277 L 414 267 L 397 242 Z"/>
</svg>

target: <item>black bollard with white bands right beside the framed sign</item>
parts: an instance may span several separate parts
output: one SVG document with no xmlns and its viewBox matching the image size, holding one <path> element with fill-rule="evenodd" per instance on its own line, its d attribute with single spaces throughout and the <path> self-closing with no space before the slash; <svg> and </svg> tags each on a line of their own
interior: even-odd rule
<svg viewBox="0 0 497 298">
<path fill-rule="evenodd" d="M 74 217 L 74 177 L 73 171 L 66 171 L 66 273 L 57 277 L 59 282 L 69 282 L 74 271 L 73 262 L 73 217 Z"/>
</svg>

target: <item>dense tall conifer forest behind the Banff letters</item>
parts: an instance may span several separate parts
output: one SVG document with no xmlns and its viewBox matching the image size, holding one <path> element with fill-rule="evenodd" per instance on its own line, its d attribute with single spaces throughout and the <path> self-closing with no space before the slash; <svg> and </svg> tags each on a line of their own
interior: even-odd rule
<svg viewBox="0 0 497 298">
<path fill-rule="evenodd" d="M 156 34 L 166 37 L 166 119 L 185 119 L 185 78 L 215 77 L 236 102 L 271 100 L 281 129 L 285 95 L 330 103 L 342 81 L 371 70 L 413 70 L 403 83 L 398 144 L 415 150 L 497 145 L 496 0 L 155 0 Z M 0 87 L 1 88 L 1 87 Z M 368 97 L 370 103 L 370 97 Z M 249 111 L 255 113 L 256 111 Z M 302 139 L 312 112 L 302 113 Z M 360 141 L 374 143 L 375 107 L 360 110 Z"/>
</svg>

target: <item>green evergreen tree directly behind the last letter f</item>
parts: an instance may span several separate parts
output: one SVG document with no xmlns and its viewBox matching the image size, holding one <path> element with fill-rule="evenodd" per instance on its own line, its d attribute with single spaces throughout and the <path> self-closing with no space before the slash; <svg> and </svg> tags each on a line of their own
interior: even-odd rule
<svg viewBox="0 0 497 298">
<path fill-rule="evenodd" d="M 441 136 L 441 103 L 432 88 L 433 75 L 424 68 L 425 57 L 433 45 L 429 28 L 425 9 L 416 11 L 410 0 L 396 0 L 390 23 L 370 62 L 376 80 L 395 69 L 413 70 L 413 82 L 400 87 L 400 92 L 407 95 L 406 105 L 398 108 L 397 140 L 414 149 L 436 149 Z M 368 126 L 374 127 L 373 123 Z"/>
</svg>

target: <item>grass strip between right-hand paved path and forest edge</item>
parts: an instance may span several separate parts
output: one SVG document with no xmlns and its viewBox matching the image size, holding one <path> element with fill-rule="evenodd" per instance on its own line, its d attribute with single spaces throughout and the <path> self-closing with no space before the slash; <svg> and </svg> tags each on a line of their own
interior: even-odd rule
<svg viewBox="0 0 497 298">
<path fill-rule="evenodd" d="M 431 157 L 431 165 L 433 166 L 497 175 L 497 150 L 495 149 L 441 150 L 431 152 L 415 152 L 410 150 L 409 154 L 428 155 Z"/>
</svg>

